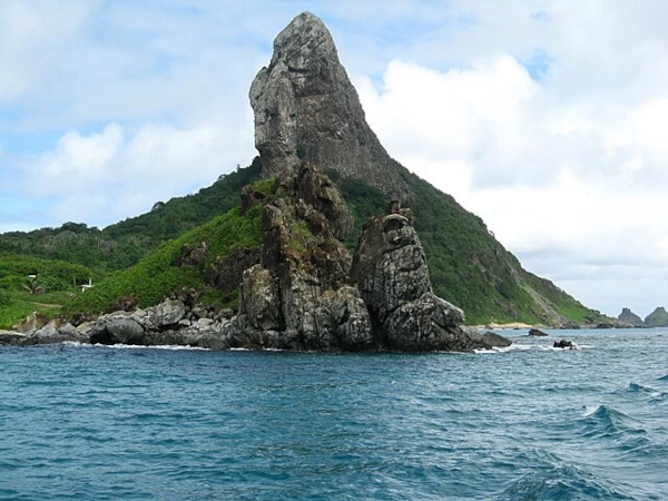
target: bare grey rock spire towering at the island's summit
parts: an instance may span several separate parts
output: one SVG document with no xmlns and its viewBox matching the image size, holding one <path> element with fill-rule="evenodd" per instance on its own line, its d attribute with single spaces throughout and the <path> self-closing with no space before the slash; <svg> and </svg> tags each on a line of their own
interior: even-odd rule
<svg viewBox="0 0 668 501">
<path fill-rule="evenodd" d="M 332 35 L 317 17 L 304 12 L 276 37 L 272 61 L 255 77 L 249 98 L 265 177 L 308 161 L 364 178 L 400 199 L 411 196 L 399 165 L 366 124 Z"/>
</svg>

